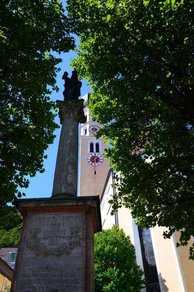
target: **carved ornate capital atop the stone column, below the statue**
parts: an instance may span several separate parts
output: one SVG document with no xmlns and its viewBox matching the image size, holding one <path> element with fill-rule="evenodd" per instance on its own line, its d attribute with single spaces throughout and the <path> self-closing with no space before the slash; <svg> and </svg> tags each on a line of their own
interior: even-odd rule
<svg viewBox="0 0 194 292">
<path fill-rule="evenodd" d="M 83 102 L 84 100 L 82 98 L 68 101 L 56 100 L 61 125 L 66 118 L 75 118 L 78 123 L 85 123 L 86 117 L 84 116 Z"/>
</svg>

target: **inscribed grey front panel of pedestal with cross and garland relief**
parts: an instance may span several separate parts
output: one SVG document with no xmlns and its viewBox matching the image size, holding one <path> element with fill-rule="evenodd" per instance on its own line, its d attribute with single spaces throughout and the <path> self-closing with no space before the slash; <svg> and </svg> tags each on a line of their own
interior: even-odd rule
<svg viewBox="0 0 194 292">
<path fill-rule="evenodd" d="M 83 214 L 29 214 L 17 292 L 84 291 L 83 221 Z"/>
</svg>

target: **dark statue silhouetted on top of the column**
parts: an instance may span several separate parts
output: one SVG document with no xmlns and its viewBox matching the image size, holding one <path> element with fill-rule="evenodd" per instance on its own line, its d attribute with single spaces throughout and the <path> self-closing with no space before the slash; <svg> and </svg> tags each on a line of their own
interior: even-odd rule
<svg viewBox="0 0 194 292">
<path fill-rule="evenodd" d="M 65 90 L 63 92 L 64 100 L 78 100 L 81 95 L 81 81 L 78 80 L 78 72 L 76 70 L 72 71 L 71 78 L 68 77 L 68 73 L 64 72 L 63 80 L 65 80 Z"/>
</svg>

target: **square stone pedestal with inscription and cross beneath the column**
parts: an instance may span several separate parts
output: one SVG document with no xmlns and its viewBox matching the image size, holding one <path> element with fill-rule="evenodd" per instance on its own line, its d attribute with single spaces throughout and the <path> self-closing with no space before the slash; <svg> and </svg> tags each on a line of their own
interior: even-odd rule
<svg viewBox="0 0 194 292">
<path fill-rule="evenodd" d="M 99 197 L 19 199 L 24 215 L 11 292 L 94 292 Z"/>
</svg>

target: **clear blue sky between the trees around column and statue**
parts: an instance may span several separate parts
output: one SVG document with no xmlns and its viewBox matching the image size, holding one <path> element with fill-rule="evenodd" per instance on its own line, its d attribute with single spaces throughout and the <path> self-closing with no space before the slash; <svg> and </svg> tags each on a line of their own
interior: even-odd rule
<svg viewBox="0 0 194 292">
<path fill-rule="evenodd" d="M 70 58 L 76 57 L 76 53 L 71 51 L 69 53 L 61 54 L 60 57 L 63 59 L 63 62 L 58 66 L 61 68 L 61 71 L 57 75 L 57 85 L 60 90 L 59 92 L 52 92 L 50 98 L 53 101 L 56 101 L 57 99 L 63 100 L 64 98 L 64 80 L 62 80 L 62 76 L 63 73 L 67 71 L 69 73 L 69 77 L 71 77 L 71 72 L 73 69 L 70 68 Z M 86 85 L 87 81 L 82 80 L 81 96 L 91 91 L 91 88 Z M 60 125 L 58 116 L 55 118 L 55 121 Z M 54 144 L 49 145 L 49 148 L 45 152 L 45 154 L 48 155 L 48 159 L 44 162 L 45 172 L 37 173 L 34 178 L 29 178 L 30 186 L 27 189 L 21 189 L 21 191 L 26 194 L 26 197 L 22 198 L 48 198 L 51 196 L 60 132 L 61 128 L 55 131 L 56 138 L 54 140 Z"/>
</svg>

